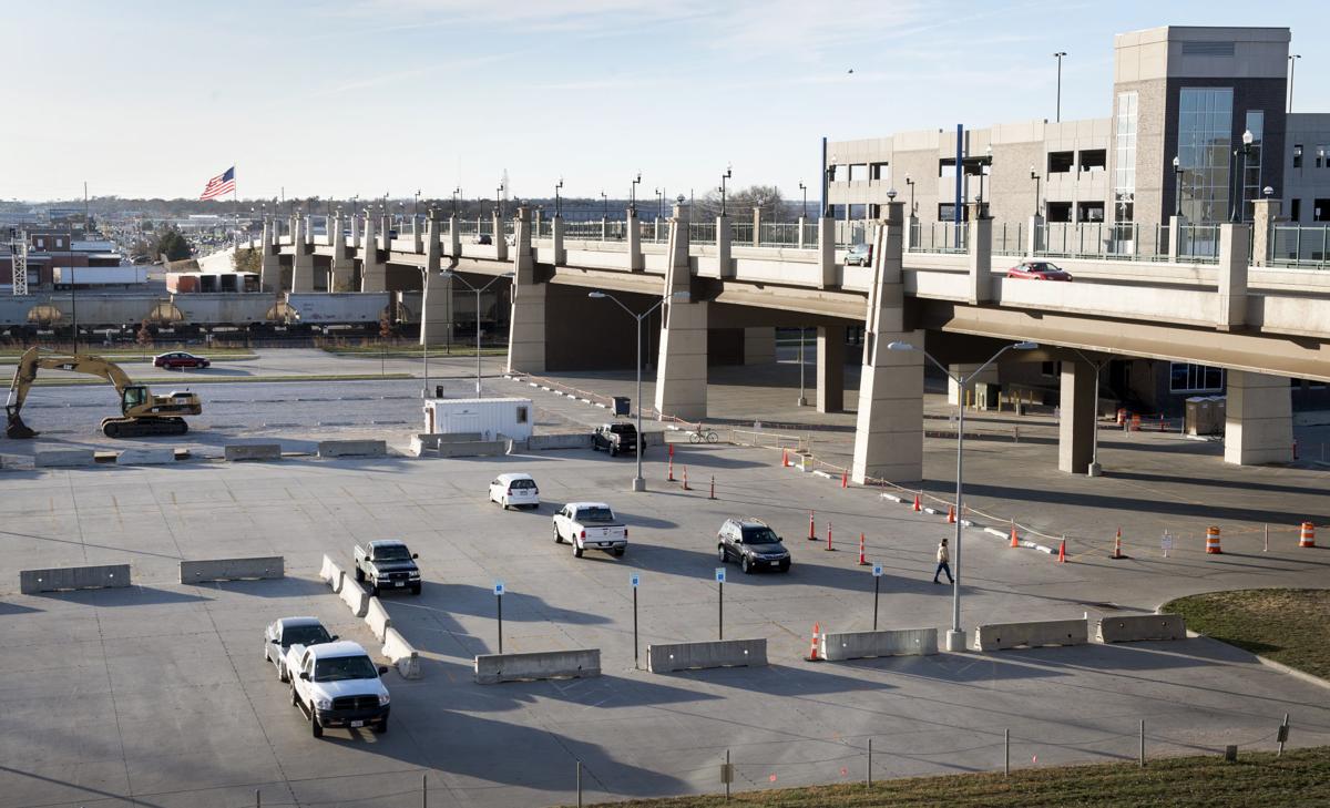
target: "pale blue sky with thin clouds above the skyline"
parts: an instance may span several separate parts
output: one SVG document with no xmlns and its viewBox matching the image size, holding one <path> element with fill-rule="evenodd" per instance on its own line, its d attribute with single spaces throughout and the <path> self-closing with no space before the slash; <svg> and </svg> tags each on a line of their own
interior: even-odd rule
<svg viewBox="0 0 1330 808">
<path fill-rule="evenodd" d="M 1330 112 L 1305 3 L 1225 0 L 0 0 L 0 198 L 638 198 L 817 187 L 821 138 L 1107 117 L 1113 35 L 1293 29 L 1294 109 Z M 15 113 L 21 112 L 23 124 Z M 814 194 L 810 194 L 814 198 Z"/>
</svg>

